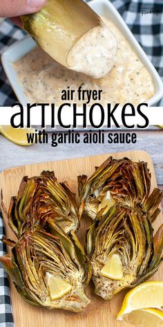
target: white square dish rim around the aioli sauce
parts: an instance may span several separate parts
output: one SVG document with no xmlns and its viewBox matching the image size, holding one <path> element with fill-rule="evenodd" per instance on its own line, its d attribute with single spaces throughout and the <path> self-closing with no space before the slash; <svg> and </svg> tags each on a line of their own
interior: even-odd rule
<svg viewBox="0 0 163 327">
<path fill-rule="evenodd" d="M 151 77 L 153 78 L 153 82 L 155 85 L 155 94 L 148 101 L 148 105 L 155 105 L 163 96 L 163 85 L 160 76 L 157 71 L 151 64 L 150 60 L 148 60 L 146 54 L 142 50 L 140 44 L 138 44 L 137 40 L 131 33 L 131 30 L 126 26 L 124 20 L 119 15 L 119 12 L 114 8 L 112 3 L 108 0 L 93 0 L 88 3 L 88 5 L 97 12 L 98 15 L 104 16 L 111 21 L 122 31 L 128 42 L 133 47 L 135 53 L 140 58 L 144 66 L 148 69 Z M 32 48 L 35 47 L 35 42 L 32 37 L 26 36 L 20 41 L 12 44 L 1 56 L 1 62 L 3 64 L 3 68 L 6 71 L 6 75 L 8 76 L 8 80 L 10 80 L 10 84 L 12 85 L 12 89 L 15 91 L 17 98 L 20 103 L 26 106 L 28 103 L 28 99 L 24 94 L 23 86 L 19 82 L 17 78 L 17 72 L 15 71 L 15 67 L 12 63 L 16 62 L 23 55 L 26 55 Z"/>
</svg>

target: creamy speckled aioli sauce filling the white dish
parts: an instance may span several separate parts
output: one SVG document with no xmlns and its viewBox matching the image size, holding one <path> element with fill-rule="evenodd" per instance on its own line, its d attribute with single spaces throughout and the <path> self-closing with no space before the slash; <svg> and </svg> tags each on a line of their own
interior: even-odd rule
<svg viewBox="0 0 163 327">
<path fill-rule="evenodd" d="M 102 90 L 102 105 L 123 105 L 126 102 L 137 105 L 153 96 L 155 87 L 150 73 L 137 58 L 121 31 L 111 21 L 104 21 L 115 35 L 118 44 L 111 71 L 104 78 L 93 79 L 83 73 L 66 69 L 41 49 L 34 48 L 14 64 L 28 101 L 61 105 L 65 103 L 61 100 L 61 91 L 70 87 L 75 89 L 75 93 L 73 100 L 67 102 L 82 105 L 86 103 L 87 98 L 84 101 L 78 100 L 77 89 L 80 86 L 83 90 Z M 90 100 L 89 105 L 93 103 L 97 101 Z"/>
</svg>

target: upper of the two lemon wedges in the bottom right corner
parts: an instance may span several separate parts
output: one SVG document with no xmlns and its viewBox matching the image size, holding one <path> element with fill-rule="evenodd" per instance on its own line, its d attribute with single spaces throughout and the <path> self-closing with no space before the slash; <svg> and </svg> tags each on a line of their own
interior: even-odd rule
<svg viewBox="0 0 163 327">
<path fill-rule="evenodd" d="M 124 297 L 122 308 L 117 320 L 123 320 L 124 315 L 133 310 L 144 308 L 161 308 L 163 306 L 163 282 L 148 281 L 129 291 Z"/>
</svg>

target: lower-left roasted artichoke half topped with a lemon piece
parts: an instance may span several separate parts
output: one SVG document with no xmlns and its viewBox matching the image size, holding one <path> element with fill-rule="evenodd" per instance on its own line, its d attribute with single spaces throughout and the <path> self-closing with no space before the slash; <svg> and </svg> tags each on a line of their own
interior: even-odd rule
<svg viewBox="0 0 163 327">
<path fill-rule="evenodd" d="M 53 235 L 35 226 L 17 243 L 4 240 L 12 246 L 12 256 L 2 256 L 0 262 L 28 303 L 79 312 L 90 303 L 84 292 L 90 265 L 73 232 L 68 237 L 58 227 L 52 229 Z"/>
</svg>

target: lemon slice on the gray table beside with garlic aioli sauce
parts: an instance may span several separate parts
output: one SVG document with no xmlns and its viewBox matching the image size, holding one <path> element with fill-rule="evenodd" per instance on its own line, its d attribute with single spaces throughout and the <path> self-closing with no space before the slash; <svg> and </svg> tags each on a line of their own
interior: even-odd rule
<svg viewBox="0 0 163 327">
<path fill-rule="evenodd" d="M 32 145 L 35 143 L 35 140 L 33 143 L 28 143 L 27 140 L 27 133 L 35 132 L 32 128 L 15 129 L 10 125 L 3 125 L 0 126 L 0 132 L 6 137 L 6 139 L 19 145 Z"/>
</svg>

